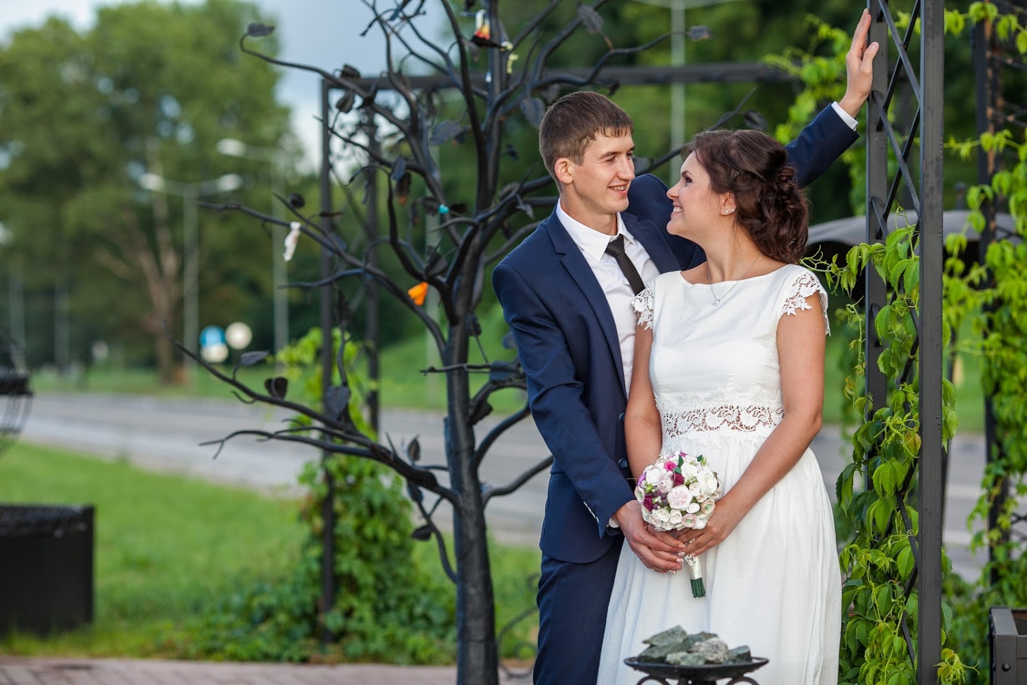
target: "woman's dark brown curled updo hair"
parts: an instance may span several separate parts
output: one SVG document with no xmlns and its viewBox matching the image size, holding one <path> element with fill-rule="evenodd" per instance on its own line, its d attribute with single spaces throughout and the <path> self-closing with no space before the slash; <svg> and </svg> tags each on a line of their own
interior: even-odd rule
<svg viewBox="0 0 1027 685">
<path fill-rule="evenodd" d="M 737 223 L 767 257 L 795 264 L 805 255 L 809 206 L 785 148 L 758 130 L 705 130 L 681 151 L 710 175 L 710 189 L 734 195 Z"/>
</svg>

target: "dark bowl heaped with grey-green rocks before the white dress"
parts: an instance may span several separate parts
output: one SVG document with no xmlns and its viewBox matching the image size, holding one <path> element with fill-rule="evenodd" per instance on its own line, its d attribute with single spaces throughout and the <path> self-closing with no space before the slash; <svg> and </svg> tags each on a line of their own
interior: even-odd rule
<svg viewBox="0 0 1027 685">
<path fill-rule="evenodd" d="M 747 645 L 731 649 L 714 633 L 689 635 L 680 625 L 642 642 L 649 646 L 638 656 L 624 659 L 624 663 L 657 678 L 716 682 L 721 678 L 744 676 L 768 661 L 754 658 Z"/>
</svg>

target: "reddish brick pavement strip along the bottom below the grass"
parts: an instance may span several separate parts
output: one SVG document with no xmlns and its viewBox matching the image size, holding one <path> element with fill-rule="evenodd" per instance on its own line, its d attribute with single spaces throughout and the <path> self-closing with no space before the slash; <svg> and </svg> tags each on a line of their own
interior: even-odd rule
<svg viewBox="0 0 1027 685">
<path fill-rule="evenodd" d="M 453 667 L 308 665 L 0 655 L 0 685 L 453 685 Z M 502 685 L 527 683 L 502 676 Z"/>
</svg>

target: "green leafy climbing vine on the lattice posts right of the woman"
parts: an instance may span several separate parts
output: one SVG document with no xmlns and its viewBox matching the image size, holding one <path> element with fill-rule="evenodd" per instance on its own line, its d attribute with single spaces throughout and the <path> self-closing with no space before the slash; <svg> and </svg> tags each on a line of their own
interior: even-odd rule
<svg viewBox="0 0 1027 685">
<path fill-rule="evenodd" d="M 908 14 L 897 13 L 895 18 L 900 29 L 909 26 Z M 1027 54 L 1023 18 L 1019 8 L 1003 14 L 993 3 L 975 2 L 964 12 L 947 10 L 945 30 L 968 49 L 968 29 L 988 23 L 996 39 L 1022 61 Z M 810 25 L 814 33 L 810 51 L 791 50 L 770 60 L 805 83 L 789 124 L 776 131 L 782 140 L 794 137 L 819 104 L 841 94 L 838 84 L 844 73 L 847 36 L 815 18 Z M 833 56 L 811 53 L 824 44 L 834 46 Z M 983 210 L 990 205 L 1007 211 L 1015 225 L 1012 236 L 1001 236 L 989 245 L 980 264 L 966 254 L 965 231 L 949 236 L 944 274 L 944 337 L 951 341 L 946 358 L 951 365 L 960 354 L 980 356 L 981 382 L 984 395 L 990 398 L 996 445 L 983 474 L 980 499 L 967 521 L 972 529 L 983 529 L 975 533 L 972 548 L 979 557 L 987 550 L 988 561 L 980 576 L 972 580 L 950 573 L 949 563 L 944 561 L 944 649 L 939 682 L 984 683 L 989 671 L 988 609 L 1027 606 L 1027 538 L 1011 534 L 1018 520 L 1018 498 L 1027 495 L 1027 403 L 1023 399 L 1027 384 L 1027 140 L 1021 128 L 998 129 L 961 143 L 950 140 L 946 147 L 964 159 L 980 151 L 1005 160 L 1005 167 L 998 164 L 990 183 L 968 190 L 968 223 L 980 234 L 985 228 Z M 862 150 L 843 157 L 853 180 L 854 207 L 864 204 L 863 159 Z M 857 245 L 844 264 L 832 264 L 826 271 L 834 287 L 850 292 L 867 269 L 880 274 L 891 294 L 871 322 L 872 334 L 884 345 L 878 368 L 891 382 L 884 398 L 865 394 L 866 318 L 862 307 L 849 305 L 840 312 L 845 330 L 854 332 L 847 355 L 852 361 L 851 373 L 844 393 L 852 407 L 851 415 L 859 420 L 852 428 L 852 461 L 837 483 L 838 519 L 843 524 L 839 531 L 847 533 L 840 553 L 846 578 L 843 606 L 847 608 L 840 681 L 890 685 L 915 682 L 918 597 L 915 585 L 911 592 L 907 587 L 914 568 L 910 536 L 918 531 L 918 518 L 911 506 L 901 505 L 907 488 L 915 487 L 919 449 L 918 365 L 910 316 L 917 310 L 919 297 L 915 234 L 906 228 L 889 234 L 882 244 Z M 951 337 L 954 331 L 960 332 L 958 339 Z M 911 373 L 904 377 L 906 372 Z M 948 380 L 943 394 L 943 437 L 948 440 L 957 427 L 955 390 Z M 1009 493 L 1004 501 L 998 497 L 1002 491 Z M 989 513 L 995 519 L 990 529 Z M 904 618 L 909 641 L 903 634 Z"/>
</svg>

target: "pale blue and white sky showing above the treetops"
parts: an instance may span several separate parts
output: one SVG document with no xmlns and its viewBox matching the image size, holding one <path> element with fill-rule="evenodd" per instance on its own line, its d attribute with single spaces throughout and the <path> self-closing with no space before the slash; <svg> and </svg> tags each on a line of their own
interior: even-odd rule
<svg viewBox="0 0 1027 685">
<path fill-rule="evenodd" d="M 251 0 L 277 17 L 275 32 L 281 43 L 281 59 L 332 71 L 344 64 L 362 73 L 373 74 L 384 67 L 380 32 L 368 37 L 359 33 L 370 21 L 370 11 L 360 0 Z M 87 29 L 102 5 L 117 0 L 0 0 L 0 41 L 11 31 L 39 26 L 46 16 L 60 14 L 76 29 Z M 238 36 L 231 36 L 234 43 Z M 319 157 L 320 94 L 318 77 L 287 69 L 279 83 L 279 99 L 293 110 L 293 128 L 308 150 L 309 160 Z"/>
</svg>

